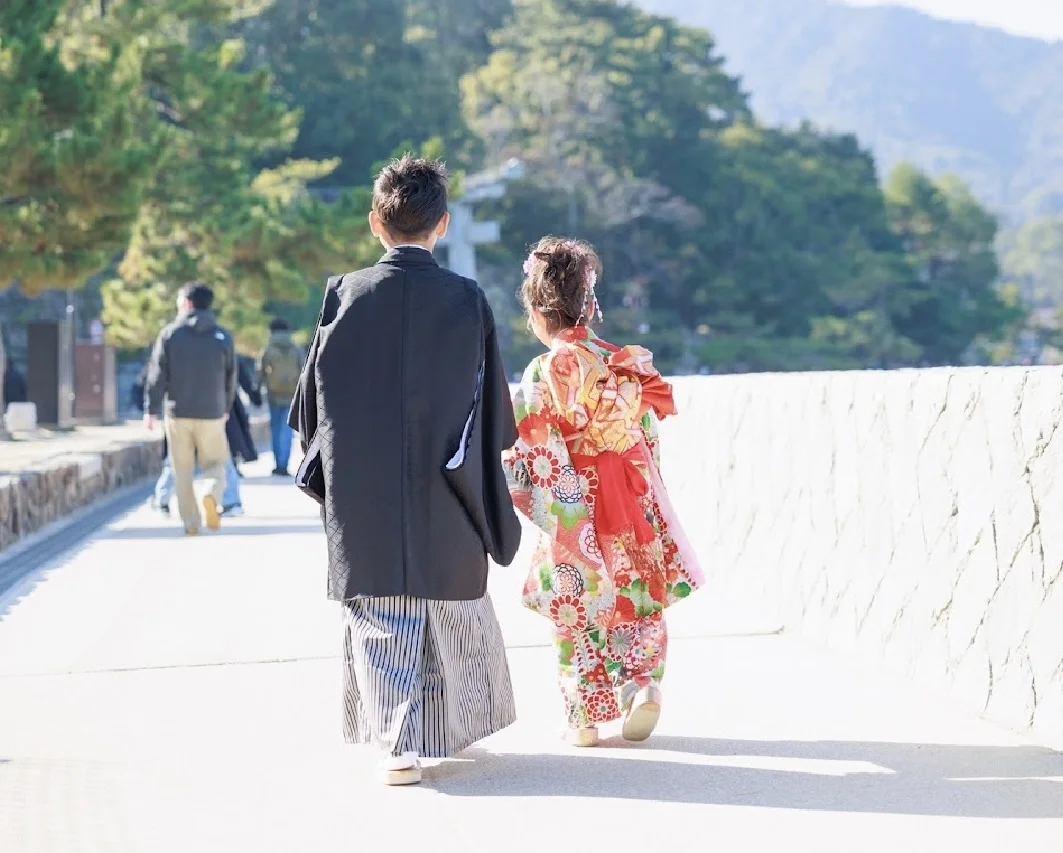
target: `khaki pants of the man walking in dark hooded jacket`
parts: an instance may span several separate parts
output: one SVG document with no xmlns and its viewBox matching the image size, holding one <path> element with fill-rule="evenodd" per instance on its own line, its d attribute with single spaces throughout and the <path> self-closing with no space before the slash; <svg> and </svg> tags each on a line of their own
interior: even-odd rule
<svg viewBox="0 0 1063 853">
<path fill-rule="evenodd" d="M 214 502 L 214 506 L 207 509 L 209 523 L 212 514 L 217 518 L 217 509 L 221 507 L 221 499 L 225 494 L 225 463 L 229 459 L 225 419 L 196 420 L 168 417 L 166 441 L 169 446 L 170 463 L 173 465 L 173 484 L 178 494 L 181 520 L 186 531 L 198 533 L 202 517 L 196 503 L 196 459 L 199 458 L 200 468 L 206 478 L 207 497 Z"/>
</svg>

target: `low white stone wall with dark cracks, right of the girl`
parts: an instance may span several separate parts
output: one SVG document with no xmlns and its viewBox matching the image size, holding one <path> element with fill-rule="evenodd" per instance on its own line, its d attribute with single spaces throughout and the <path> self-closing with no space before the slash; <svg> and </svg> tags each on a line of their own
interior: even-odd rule
<svg viewBox="0 0 1063 853">
<path fill-rule="evenodd" d="M 664 479 L 709 595 L 1063 747 L 1063 371 L 675 386 Z"/>
</svg>

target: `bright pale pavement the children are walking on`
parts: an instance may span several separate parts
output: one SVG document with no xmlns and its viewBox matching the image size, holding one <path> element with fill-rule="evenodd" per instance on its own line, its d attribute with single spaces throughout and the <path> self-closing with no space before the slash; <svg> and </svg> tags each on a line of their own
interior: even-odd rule
<svg viewBox="0 0 1063 853">
<path fill-rule="evenodd" d="M 2 853 L 1063 851 L 1063 756 L 706 595 L 658 735 L 566 748 L 521 558 L 491 587 L 520 720 L 384 788 L 339 735 L 315 508 L 244 491 L 219 534 L 140 509 L 0 601 Z"/>
</svg>

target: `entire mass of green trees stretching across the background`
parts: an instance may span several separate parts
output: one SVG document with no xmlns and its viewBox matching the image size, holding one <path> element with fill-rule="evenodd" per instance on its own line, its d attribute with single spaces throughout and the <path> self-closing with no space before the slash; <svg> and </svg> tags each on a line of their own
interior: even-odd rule
<svg viewBox="0 0 1063 853">
<path fill-rule="evenodd" d="M 34 291 L 48 264 L 56 283 L 98 272 L 125 347 L 191 278 L 244 348 L 271 313 L 308 329 L 324 275 L 378 256 L 368 187 L 402 150 L 444 156 L 457 191 L 463 170 L 525 163 L 478 212 L 502 227 L 480 278 L 513 369 L 538 350 L 513 294 L 546 233 L 598 247 L 600 331 L 665 370 L 956 363 L 1020 319 L 995 286 L 996 220 L 963 183 L 880 180 L 851 134 L 764 122 L 706 30 L 627 3 L 17 0 L 0 36 L 0 165 L 18 166 L 0 198 L 37 216 L 32 246 L 0 239 L 0 270 Z M 12 76 L 5 56 L 64 74 Z M 96 105 L 79 145 L 99 165 L 67 177 L 49 140 L 71 86 Z M 128 175 L 103 156 L 115 134 L 145 141 Z M 325 202 L 315 184 L 347 189 Z M 112 262 L 66 257 L 64 229 L 103 193 L 123 200 Z"/>
</svg>

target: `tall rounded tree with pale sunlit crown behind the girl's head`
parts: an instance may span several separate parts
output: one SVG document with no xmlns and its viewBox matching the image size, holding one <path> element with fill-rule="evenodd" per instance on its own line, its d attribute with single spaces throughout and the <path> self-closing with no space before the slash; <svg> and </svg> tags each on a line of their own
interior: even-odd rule
<svg viewBox="0 0 1063 853">
<path fill-rule="evenodd" d="M 592 239 L 607 333 L 667 328 L 670 295 L 698 299 L 712 229 L 688 190 L 713 170 L 718 131 L 747 114 L 737 81 L 707 34 L 611 2 L 518 0 L 492 40 L 466 110 L 489 160 L 527 164 L 500 211 L 513 260 L 543 233 Z"/>
</svg>

